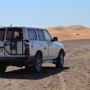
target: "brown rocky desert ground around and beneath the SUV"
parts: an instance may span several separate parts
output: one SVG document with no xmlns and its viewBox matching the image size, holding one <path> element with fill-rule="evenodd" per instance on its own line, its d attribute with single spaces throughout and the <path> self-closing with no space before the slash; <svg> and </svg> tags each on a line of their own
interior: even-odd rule
<svg viewBox="0 0 90 90">
<path fill-rule="evenodd" d="M 0 90 L 90 90 L 90 40 L 63 42 L 66 49 L 63 70 L 43 66 L 41 73 L 8 67 L 0 74 Z"/>
</svg>

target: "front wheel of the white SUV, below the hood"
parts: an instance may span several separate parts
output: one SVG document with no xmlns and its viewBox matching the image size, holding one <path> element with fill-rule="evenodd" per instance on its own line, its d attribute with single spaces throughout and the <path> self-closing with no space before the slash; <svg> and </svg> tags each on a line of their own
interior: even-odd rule
<svg viewBox="0 0 90 90">
<path fill-rule="evenodd" d="M 59 53 L 59 56 L 56 60 L 55 65 L 56 65 L 56 68 L 63 68 L 64 66 L 64 52 L 63 51 Z"/>
</svg>

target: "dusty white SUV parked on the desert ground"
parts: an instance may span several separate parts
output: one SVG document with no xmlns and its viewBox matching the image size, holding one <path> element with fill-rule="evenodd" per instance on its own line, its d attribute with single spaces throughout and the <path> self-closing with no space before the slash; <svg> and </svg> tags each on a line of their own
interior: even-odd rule
<svg viewBox="0 0 90 90">
<path fill-rule="evenodd" d="M 40 28 L 2 27 L 0 28 L 0 72 L 7 66 L 25 66 L 36 72 L 42 70 L 43 63 L 53 63 L 57 68 L 64 64 L 64 45 L 52 39 L 49 32 Z"/>
</svg>

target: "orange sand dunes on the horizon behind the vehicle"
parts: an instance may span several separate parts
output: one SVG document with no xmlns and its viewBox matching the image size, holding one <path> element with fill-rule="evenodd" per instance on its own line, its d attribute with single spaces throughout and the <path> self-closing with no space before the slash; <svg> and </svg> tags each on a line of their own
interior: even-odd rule
<svg viewBox="0 0 90 90">
<path fill-rule="evenodd" d="M 90 28 L 82 25 L 57 26 L 46 28 L 51 35 L 58 37 L 60 41 L 75 39 L 90 39 Z"/>
</svg>

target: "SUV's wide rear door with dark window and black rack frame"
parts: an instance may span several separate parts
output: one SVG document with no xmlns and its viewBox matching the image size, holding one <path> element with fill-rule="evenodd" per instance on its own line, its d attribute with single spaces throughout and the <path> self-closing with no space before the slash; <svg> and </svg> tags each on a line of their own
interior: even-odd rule
<svg viewBox="0 0 90 90">
<path fill-rule="evenodd" d="M 23 55 L 23 31 L 21 28 L 7 28 L 5 40 L 6 56 Z"/>
</svg>

